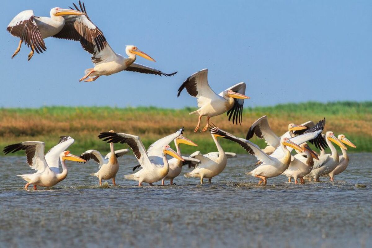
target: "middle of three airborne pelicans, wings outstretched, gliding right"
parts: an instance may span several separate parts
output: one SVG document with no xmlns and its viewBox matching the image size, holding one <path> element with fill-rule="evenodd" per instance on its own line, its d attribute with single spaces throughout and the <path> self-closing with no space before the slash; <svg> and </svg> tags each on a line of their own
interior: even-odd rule
<svg viewBox="0 0 372 248">
<path fill-rule="evenodd" d="M 80 9 L 76 6 L 76 4 L 74 4 L 76 11 L 80 11 L 86 14 L 84 3 L 81 4 L 81 2 L 79 1 L 79 5 L 80 5 Z M 112 50 L 110 45 L 108 44 L 102 31 L 90 21 L 87 15 L 86 17 L 87 17 L 87 20 L 84 19 L 83 24 L 89 27 L 90 29 L 95 30 L 96 35 L 95 36 L 84 36 L 85 34 L 84 32 L 81 32 L 81 34 L 74 32 L 74 33 L 71 33 L 70 36 L 68 36 L 67 38 L 67 39 L 74 39 L 74 40 L 80 41 L 80 44 L 84 48 L 84 50 L 86 50 L 87 52 L 93 55 L 91 59 L 94 64 L 94 67 L 85 70 L 84 77 L 80 78 L 79 81 L 85 80 L 85 82 L 91 82 L 91 81 L 96 80 L 102 75 L 108 76 L 114 73 L 118 73 L 120 71 L 135 71 L 139 73 L 155 74 L 159 76 L 161 75 L 171 76 L 177 73 L 176 71 L 174 73 L 166 74 L 157 69 L 135 63 L 134 61 L 136 60 L 136 55 L 155 62 L 155 60 L 151 58 L 149 55 L 140 51 L 137 48 L 137 46 L 133 46 L 133 45 L 126 46 L 125 53 L 128 55 L 128 58 L 125 58 L 120 54 L 116 54 Z M 81 23 L 81 20 L 78 20 L 76 18 L 71 19 L 71 20 L 69 19 L 68 21 L 70 25 L 72 26 L 80 25 Z M 66 39 L 66 37 L 58 37 L 58 38 Z"/>
</svg>

